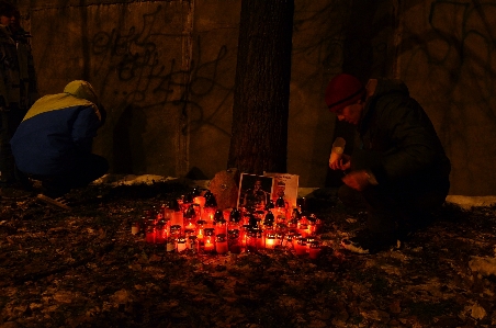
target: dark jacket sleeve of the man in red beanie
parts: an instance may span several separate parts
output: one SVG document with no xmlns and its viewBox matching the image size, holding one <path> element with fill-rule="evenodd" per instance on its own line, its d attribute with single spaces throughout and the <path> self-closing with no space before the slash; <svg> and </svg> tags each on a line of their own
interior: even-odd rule
<svg viewBox="0 0 496 328">
<path fill-rule="evenodd" d="M 377 181 L 394 181 L 428 170 L 438 157 L 440 142 L 421 106 L 413 99 L 392 101 L 385 105 L 380 125 L 391 140 L 383 154 L 382 168 L 372 170 Z"/>
</svg>

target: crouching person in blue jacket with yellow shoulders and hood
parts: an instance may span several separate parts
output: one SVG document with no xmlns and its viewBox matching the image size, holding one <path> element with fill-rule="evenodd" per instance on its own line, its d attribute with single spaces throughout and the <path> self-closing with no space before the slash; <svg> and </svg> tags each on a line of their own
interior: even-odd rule
<svg viewBox="0 0 496 328">
<path fill-rule="evenodd" d="M 11 139 L 19 170 L 42 182 L 38 199 L 68 210 L 64 195 L 105 174 L 109 162 L 91 152 L 106 113 L 90 83 L 71 81 L 41 98 Z"/>
</svg>

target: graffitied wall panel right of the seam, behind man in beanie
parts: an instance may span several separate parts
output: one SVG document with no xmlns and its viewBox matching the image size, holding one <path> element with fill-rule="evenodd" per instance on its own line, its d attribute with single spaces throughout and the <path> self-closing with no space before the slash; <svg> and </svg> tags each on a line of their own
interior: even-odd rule
<svg viewBox="0 0 496 328">
<path fill-rule="evenodd" d="M 443 142 L 451 194 L 494 195 L 496 1 L 403 5 L 398 75 Z"/>
</svg>

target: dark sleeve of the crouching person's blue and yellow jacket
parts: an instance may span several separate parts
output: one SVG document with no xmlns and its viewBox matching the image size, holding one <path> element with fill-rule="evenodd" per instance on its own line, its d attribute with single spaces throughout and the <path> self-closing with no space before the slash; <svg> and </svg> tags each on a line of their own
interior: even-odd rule
<svg viewBox="0 0 496 328">
<path fill-rule="evenodd" d="M 100 120 L 93 106 L 84 106 L 79 111 L 72 124 L 72 142 L 83 152 L 91 152 L 93 138 L 100 127 Z"/>
</svg>

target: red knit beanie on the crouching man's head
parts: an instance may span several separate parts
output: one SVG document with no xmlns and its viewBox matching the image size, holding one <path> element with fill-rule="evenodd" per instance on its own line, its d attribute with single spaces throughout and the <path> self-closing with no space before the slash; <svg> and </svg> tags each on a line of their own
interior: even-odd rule
<svg viewBox="0 0 496 328">
<path fill-rule="evenodd" d="M 357 103 L 365 92 L 362 83 L 353 76 L 340 73 L 334 77 L 326 88 L 326 103 L 331 112 Z"/>
</svg>

